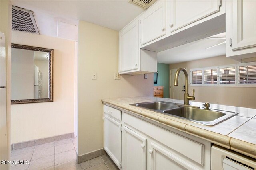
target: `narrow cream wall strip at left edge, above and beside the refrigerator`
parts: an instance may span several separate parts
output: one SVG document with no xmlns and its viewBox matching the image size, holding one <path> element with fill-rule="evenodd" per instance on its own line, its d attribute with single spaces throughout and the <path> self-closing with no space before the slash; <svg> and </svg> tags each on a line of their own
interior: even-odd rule
<svg viewBox="0 0 256 170">
<path fill-rule="evenodd" d="M 11 28 L 12 28 L 12 3 L 10 0 L 0 0 L 0 31 L 5 34 L 6 41 L 6 91 L 7 91 L 7 148 L 1 147 L 1 159 L 10 160 L 11 140 Z M 2 125 L 1 125 L 2 127 Z M 6 148 L 6 149 L 5 149 Z M 3 156 L 3 157 L 2 157 Z M 7 170 L 10 165 L 0 164 L 0 169 Z"/>
</svg>

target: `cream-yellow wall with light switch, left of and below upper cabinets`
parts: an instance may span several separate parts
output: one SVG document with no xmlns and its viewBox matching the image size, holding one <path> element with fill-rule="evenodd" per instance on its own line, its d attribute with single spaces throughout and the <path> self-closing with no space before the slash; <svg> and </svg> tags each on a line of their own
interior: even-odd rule
<svg viewBox="0 0 256 170">
<path fill-rule="evenodd" d="M 97 72 L 97 80 L 92 80 Z M 153 75 L 118 72 L 118 31 L 79 21 L 78 26 L 78 155 L 103 148 L 102 98 L 153 96 Z"/>
</svg>

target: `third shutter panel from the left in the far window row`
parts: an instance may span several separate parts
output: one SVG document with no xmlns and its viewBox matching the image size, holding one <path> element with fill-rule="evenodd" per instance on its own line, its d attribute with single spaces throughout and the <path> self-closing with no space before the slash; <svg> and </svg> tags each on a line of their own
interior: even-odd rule
<svg viewBox="0 0 256 170">
<path fill-rule="evenodd" d="M 220 68 L 220 84 L 236 84 L 236 67 Z"/>
</svg>

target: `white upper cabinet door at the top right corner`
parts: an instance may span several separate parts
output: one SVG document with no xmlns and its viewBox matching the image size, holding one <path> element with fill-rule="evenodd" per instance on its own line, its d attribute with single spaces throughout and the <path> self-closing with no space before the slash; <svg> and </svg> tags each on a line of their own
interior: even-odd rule
<svg viewBox="0 0 256 170">
<path fill-rule="evenodd" d="M 256 1 L 233 0 L 232 6 L 232 50 L 256 46 Z"/>
</svg>

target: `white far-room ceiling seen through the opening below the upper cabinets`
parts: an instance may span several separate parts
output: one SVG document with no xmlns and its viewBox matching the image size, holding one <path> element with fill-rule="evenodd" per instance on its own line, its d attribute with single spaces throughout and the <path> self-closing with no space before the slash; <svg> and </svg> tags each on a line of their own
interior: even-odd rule
<svg viewBox="0 0 256 170">
<path fill-rule="evenodd" d="M 187 43 L 161 51 L 157 54 L 157 62 L 165 64 L 180 63 L 209 57 L 216 57 L 226 54 L 226 44 L 217 45 L 226 41 L 226 39 L 215 39 L 216 37 L 226 37 L 226 33 L 220 33 L 208 38 L 200 39 L 192 43 Z M 217 45 L 215 47 L 211 47 Z M 209 49 L 206 49 L 211 47 Z"/>
</svg>

